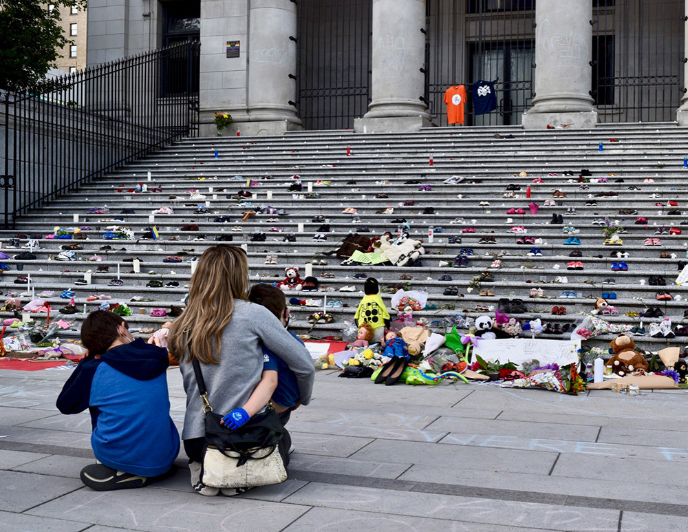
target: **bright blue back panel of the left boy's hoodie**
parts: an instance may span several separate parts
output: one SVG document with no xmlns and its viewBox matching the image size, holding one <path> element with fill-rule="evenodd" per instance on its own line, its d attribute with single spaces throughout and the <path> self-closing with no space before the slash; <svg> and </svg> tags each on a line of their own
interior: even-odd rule
<svg viewBox="0 0 688 532">
<path fill-rule="evenodd" d="M 98 365 L 89 406 L 98 412 L 91 435 L 96 459 L 145 477 L 166 473 L 179 454 L 179 432 L 170 418 L 167 375 L 139 381 Z"/>
</svg>

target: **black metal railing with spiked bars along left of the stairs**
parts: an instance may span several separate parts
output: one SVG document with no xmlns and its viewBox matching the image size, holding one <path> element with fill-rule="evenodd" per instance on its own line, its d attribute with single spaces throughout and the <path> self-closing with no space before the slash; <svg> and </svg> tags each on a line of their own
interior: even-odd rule
<svg viewBox="0 0 688 532">
<path fill-rule="evenodd" d="M 0 224 L 198 131 L 199 43 L 0 92 Z"/>
</svg>

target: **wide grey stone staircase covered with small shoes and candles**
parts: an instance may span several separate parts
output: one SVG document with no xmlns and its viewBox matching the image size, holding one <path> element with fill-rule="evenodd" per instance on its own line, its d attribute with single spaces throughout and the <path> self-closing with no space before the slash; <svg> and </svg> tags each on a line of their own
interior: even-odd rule
<svg viewBox="0 0 688 532">
<path fill-rule="evenodd" d="M 672 286 L 679 273 L 678 262 L 688 260 L 685 235 L 655 234 L 658 228 L 677 228 L 688 231 L 687 200 L 688 184 L 683 168 L 688 154 L 687 129 L 673 124 L 601 126 L 596 131 L 522 131 L 515 127 L 491 128 L 435 128 L 417 134 L 359 134 L 350 131 L 308 131 L 290 133 L 281 137 L 258 138 L 194 138 L 179 142 L 144 160 L 129 164 L 111 173 L 107 178 L 83 187 L 79 193 L 52 202 L 30 217 L 19 221 L 14 230 L 0 231 L 0 240 L 7 246 L 12 237 L 23 235 L 21 245 L 32 235 L 45 237 L 55 226 L 69 228 L 87 226 L 84 231 L 88 240 L 39 241 L 34 250 L 36 260 L 11 258 L 20 250 L 4 249 L 10 255 L 5 262 L 11 269 L 1 278 L 3 293 L 22 292 L 26 286 L 14 284 L 17 275 L 30 275 L 31 287 L 38 294 L 52 290 L 54 297 L 47 298 L 53 308 L 61 308 L 68 299 L 60 299 L 65 289 L 76 292 L 76 306 L 92 309 L 102 301 L 86 301 L 89 295 L 106 294 L 112 302 L 129 304 L 132 315 L 128 318 L 132 327 L 158 327 L 164 317 L 151 317 L 153 308 L 180 305 L 186 294 L 184 285 L 191 274 L 189 259 L 200 257 L 207 246 L 217 242 L 216 237 L 231 235 L 236 245 L 246 244 L 252 273 L 252 281 L 280 281 L 286 266 L 298 266 L 305 277 L 305 264 L 311 259 L 324 259 L 327 264 L 313 264 L 313 275 L 321 285 L 332 292 L 288 292 L 287 297 L 325 300 L 336 306 L 327 306 L 327 312 L 336 318 L 334 323 L 318 323 L 312 334 L 324 337 L 338 334 L 343 319 L 352 318 L 362 292 L 340 292 L 344 286 L 362 290 L 363 279 L 354 279 L 356 273 L 375 276 L 380 286 L 407 282 L 412 289 L 427 290 L 429 304 L 437 310 L 414 312 L 414 317 L 429 321 L 448 318 L 456 314 L 476 317 L 482 314 L 476 306 L 494 309 L 499 299 L 522 299 L 528 312 L 520 319 L 541 317 L 543 323 L 558 324 L 562 329 L 572 328 L 590 312 L 603 292 L 615 292 L 616 300 L 610 304 L 618 308 L 618 316 L 605 316 L 612 323 L 628 323 L 645 328 L 652 321 L 627 313 L 643 312 L 646 308 L 660 308 L 681 326 L 685 287 Z M 502 138 L 495 138 L 501 136 Z M 513 138 L 509 138 L 513 137 Z M 610 142 L 614 138 L 618 142 Z M 603 142 L 603 151 L 599 143 Z M 347 156 L 347 149 L 350 155 Z M 217 153 L 217 156 L 216 156 Z M 430 160 L 432 159 L 432 164 Z M 580 183 L 581 169 L 589 169 L 592 180 L 606 177 L 606 183 Z M 570 170 L 573 175 L 564 175 Z M 521 171 L 527 176 L 514 177 Z M 151 180 L 147 180 L 147 173 Z M 557 173 L 557 175 L 550 175 Z M 610 176 L 610 174 L 615 174 Z M 293 175 L 299 175 L 303 191 L 292 192 Z M 464 178 L 460 184 L 444 184 L 451 176 Z M 534 183 L 540 178 L 544 182 Z M 259 185 L 246 187 L 246 180 L 256 180 Z M 623 182 L 616 180 L 623 179 Z M 652 179 L 653 182 L 645 180 Z M 316 181 L 330 181 L 330 185 L 318 185 Z M 408 183 L 413 181 L 413 183 Z M 417 181 L 417 182 L 416 182 Z M 138 182 L 148 187 L 162 187 L 162 192 L 130 193 Z M 352 184 L 351 182 L 355 182 Z M 309 198 L 309 184 L 319 198 Z M 517 198 L 504 198 L 510 185 L 520 187 L 513 191 Z M 431 190 L 420 191 L 429 185 Z M 588 189 L 581 189 L 585 185 Z M 526 187 L 530 186 L 530 199 L 526 199 Z M 510 187 L 510 188 L 517 188 Z M 637 187 L 629 189 L 629 187 Z M 204 199 L 191 200 L 188 191 L 197 190 Z M 239 200 L 231 197 L 239 190 L 257 194 L 246 198 L 252 206 L 239 206 Z M 552 198 L 553 191 L 561 191 L 566 197 Z M 268 194 L 271 193 L 271 199 Z M 379 193 L 387 198 L 376 198 Z M 608 193 L 608 195 L 601 195 Z M 592 195 L 592 198 L 590 197 Z M 652 197 L 657 195 L 657 197 Z M 413 206 L 400 206 L 405 201 Z M 546 200 L 555 204 L 545 205 Z M 669 201 L 676 206 L 669 206 Z M 209 202 L 208 213 L 196 213 L 199 204 Z M 488 205 L 480 205 L 488 202 Z M 530 214 L 528 204 L 539 205 L 537 214 Z M 596 202 L 586 205 L 586 202 Z M 662 204 L 661 206 L 656 204 Z M 274 206 L 283 209 L 284 215 L 263 214 L 241 222 L 242 213 L 257 206 Z M 89 214 L 98 206 L 107 206 L 109 214 Z M 153 220 L 160 238 L 151 240 L 103 240 L 107 226 L 127 226 L 140 239 L 152 224 L 152 211 L 169 206 L 174 213 L 156 214 Z M 352 207 L 358 211 L 360 222 L 342 211 Z M 380 214 L 387 207 L 394 213 Z M 433 214 L 423 214 L 428 207 Z M 507 214 L 508 209 L 524 209 L 526 214 Z M 133 209 L 134 213 L 120 213 Z M 574 209 L 575 213 L 572 213 Z M 637 214 L 620 214 L 619 211 L 637 211 Z M 79 215 L 78 224 L 74 215 Z M 316 215 L 323 215 L 331 232 L 326 242 L 314 242 L 313 236 L 322 222 L 313 222 Z M 553 215 L 561 215 L 562 223 L 552 224 Z M 216 223 L 219 216 L 227 216 L 230 223 Z M 627 233 L 620 235 L 622 246 L 605 246 L 602 228 L 592 224 L 594 220 L 609 217 L 619 220 Z M 647 219 L 647 226 L 635 224 L 638 217 Z M 278 221 L 268 220 L 276 218 Z M 462 218 L 464 224 L 451 223 Z M 410 224 L 411 237 L 424 239 L 425 255 L 420 267 L 356 266 L 342 265 L 334 255 L 321 253 L 338 247 L 338 243 L 358 226 L 367 226 L 369 236 L 384 231 L 396 234 L 398 223 L 405 219 Z M 180 231 L 182 226 L 197 224 L 198 231 Z M 303 231 L 299 232 L 299 224 Z M 232 231 L 239 226 L 241 232 Z M 513 226 L 524 226 L 526 233 L 510 234 Z M 575 234 L 562 234 L 562 228 L 574 226 Z M 270 232 L 271 227 L 283 228 L 283 232 Z M 428 242 L 428 229 L 436 229 L 433 242 Z M 476 228 L 475 233 L 465 233 L 466 228 Z M 266 235 L 265 242 L 252 242 L 254 233 Z M 285 235 L 294 233 L 296 242 L 284 242 Z M 204 235 L 206 240 L 194 240 Z M 449 244 L 449 237 L 459 236 L 460 244 Z M 517 244 L 521 237 L 541 239 L 537 244 Z M 178 237 L 179 240 L 169 240 Z M 480 244 L 483 237 L 495 237 L 496 244 Z M 581 245 L 564 245 L 568 237 L 577 237 Z M 660 239 L 658 246 L 645 246 L 646 238 Z M 53 260 L 61 246 L 81 244 L 76 251 L 80 260 L 62 262 Z M 109 245 L 115 250 L 99 251 Z M 541 250 L 542 256 L 528 256 L 530 248 Z M 463 248 L 471 248 L 467 267 L 440 266 L 441 262 L 453 262 Z M 186 250 L 186 251 L 184 251 Z M 193 251 L 192 251 L 193 250 Z M 23 251 L 23 250 L 22 250 Z M 580 251 L 581 257 L 570 257 L 572 251 Z M 623 251 L 627 258 L 611 257 L 612 252 Z M 675 258 L 660 258 L 660 254 Z M 87 262 L 89 257 L 100 255 L 102 262 Z M 277 255 L 277 264 L 264 264 L 267 255 Z M 502 256 L 497 256 L 502 255 Z M 166 263 L 168 256 L 181 256 L 184 262 Z M 131 273 L 131 262 L 125 259 L 138 257 L 142 263 L 140 273 Z M 500 268 L 491 268 L 495 259 L 502 262 Z M 568 270 L 567 264 L 580 261 L 583 270 Z M 613 262 L 625 262 L 627 271 L 612 271 Z M 122 286 L 109 286 L 117 277 L 118 264 Z M 107 266 L 109 272 L 96 273 L 98 266 Z M 21 271 L 17 271 L 21 268 Z M 65 271 L 66 270 L 66 271 Z M 92 270 L 92 283 L 75 285 L 84 273 Z M 481 284 L 494 292 L 494 296 L 480 296 L 480 289 L 469 291 L 473 277 L 489 271 L 494 282 Z M 331 273 L 332 278 L 323 278 Z M 401 275 L 413 279 L 403 281 Z M 450 275 L 451 281 L 438 280 Z M 667 286 L 652 286 L 649 277 L 663 276 Z M 555 282 L 566 277 L 566 282 Z M 178 287 L 147 287 L 151 279 L 162 279 L 164 284 L 177 281 Z M 603 284 L 614 279 L 615 284 Z M 644 281 L 644 284 L 641 284 Z M 444 295 L 444 290 L 455 286 L 460 296 Z M 529 297 L 531 290 L 541 289 L 543 297 Z M 657 300 L 656 292 L 666 291 L 680 299 Z M 574 292 L 574 297 L 562 297 L 563 292 Z M 131 301 L 138 297 L 151 301 Z M 383 295 L 388 301 L 391 294 Z M 28 301 L 28 297 L 23 298 Z M 340 306 L 341 305 L 341 306 Z M 454 308 L 451 308 L 453 306 Z M 565 306 L 566 315 L 552 315 L 555 306 Z M 448 307 L 448 308 L 443 308 Z M 305 317 L 317 308 L 292 306 L 292 328 L 308 330 Z M 140 313 L 142 312 L 142 313 Z M 394 312 L 391 312 L 394 314 Z M 9 312 L 3 316 L 10 317 Z M 70 319 L 83 319 L 83 313 Z M 684 323 L 685 324 L 685 323 Z M 75 333 L 76 334 L 76 333 Z M 598 337 L 594 343 L 608 343 L 613 335 Z M 543 334 L 543 338 L 563 339 L 566 334 Z M 669 340 L 683 343 L 684 337 Z M 660 348 L 665 338 L 643 337 L 642 347 Z M 650 345 L 645 345 L 649 343 Z"/>
</svg>

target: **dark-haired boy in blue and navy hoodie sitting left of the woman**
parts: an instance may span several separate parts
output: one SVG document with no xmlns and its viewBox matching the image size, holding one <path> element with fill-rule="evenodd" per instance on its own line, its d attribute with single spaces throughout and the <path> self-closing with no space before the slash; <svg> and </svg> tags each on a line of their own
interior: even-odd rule
<svg viewBox="0 0 688 532">
<path fill-rule="evenodd" d="M 127 322 L 104 310 L 81 326 L 88 350 L 57 398 L 63 414 L 91 412 L 98 463 L 81 470 L 96 491 L 137 488 L 172 467 L 180 448 L 169 415 L 167 350 L 134 340 Z"/>
</svg>

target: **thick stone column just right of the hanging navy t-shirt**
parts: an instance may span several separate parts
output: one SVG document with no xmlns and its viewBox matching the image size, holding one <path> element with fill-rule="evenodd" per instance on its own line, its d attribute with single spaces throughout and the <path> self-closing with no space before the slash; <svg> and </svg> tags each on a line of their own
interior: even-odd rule
<svg viewBox="0 0 688 532">
<path fill-rule="evenodd" d="M 526 129 L 597 124 L 592 89 L 592 0 L 537 0 L 535 98 L 523 116 Z"/>
</svg>

